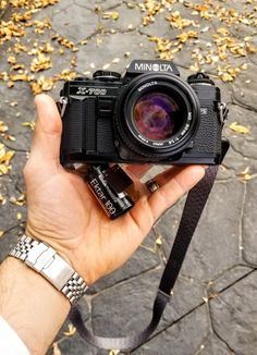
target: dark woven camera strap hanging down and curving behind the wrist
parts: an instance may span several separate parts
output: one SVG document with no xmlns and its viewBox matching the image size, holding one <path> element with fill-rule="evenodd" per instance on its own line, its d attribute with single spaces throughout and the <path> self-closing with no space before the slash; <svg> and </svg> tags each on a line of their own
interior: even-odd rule
<svg viewBox="0 0 257 355">
<path fill-rule="evenodd" d="M 99 336 L 85 327 L 78 308 L 73 307 L 70 313 L 70 319 L 86 342 L 105 350 L 132 351 L 140 346 L 154 333 L 172 296 L 173 286 L 212 188 L 217 172 L 218 166 L 209 167 L 201 181 L 192 188 L 187 195 L 170 257 L 162 273 L 159 290 L 154 302 L 150 323 L 142 332 L 134 332 L 124 338 Z"/>
</svg>

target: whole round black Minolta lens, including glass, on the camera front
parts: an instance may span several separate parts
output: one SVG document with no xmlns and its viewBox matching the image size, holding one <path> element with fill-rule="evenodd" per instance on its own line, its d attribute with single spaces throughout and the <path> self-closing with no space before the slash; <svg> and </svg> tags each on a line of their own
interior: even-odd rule
<svg viewBox="0 0 257 355">
<path fill-rule="evenodd" d="M 193 88 L 170 74 L 142 74 L 117 100 L 119 139 L 139 156 L 159 159 L 184 150 L 193 140 L 200 106 Z"/>
</svg>

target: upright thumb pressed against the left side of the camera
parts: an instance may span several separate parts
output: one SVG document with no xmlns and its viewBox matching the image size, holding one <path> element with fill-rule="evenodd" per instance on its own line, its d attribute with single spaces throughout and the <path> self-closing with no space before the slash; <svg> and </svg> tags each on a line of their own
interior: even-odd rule
<svg viewBox="0 0 257 355">
<path fill-rule="evenodd" d="M 30 159 L 42 164 L 59 163 L 62 122 L 56 102 L 48 95 L 35 98 L 37 121 L 32 144 Z"/>
</svg>

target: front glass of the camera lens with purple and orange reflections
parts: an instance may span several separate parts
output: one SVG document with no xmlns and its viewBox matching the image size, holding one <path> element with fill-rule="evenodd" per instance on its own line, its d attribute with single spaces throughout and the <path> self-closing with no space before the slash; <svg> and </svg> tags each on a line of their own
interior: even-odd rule
<svg viewBox="0 0 257 355">
<path fill-rule="evenodd" d="M 174 99 L 162 93 L 143 95 L 134 107 L 134 124 L 137 131 L 151 140 L 170 138 L 182 126 L 180 108 Z"/>
</svg>

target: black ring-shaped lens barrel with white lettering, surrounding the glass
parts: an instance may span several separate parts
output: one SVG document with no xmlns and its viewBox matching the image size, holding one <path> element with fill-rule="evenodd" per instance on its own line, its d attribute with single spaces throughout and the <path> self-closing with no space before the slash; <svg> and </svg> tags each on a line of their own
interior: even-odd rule
<svg viewBox="0 0 257 355">
<path fill-rule="evenodd" d="M 134 108 L 142 97 L 156 93 L 170 97 L 172 103 L 175 102 L 179 109 L 174 109 L 175 130 L 174 133 L 162 140 L 151 139 L 140 133 L 135 125 Z M 172 110 L 170 112 L 173 112 Z M 181 122 L 180 120 L 181 115 Z M 121 90 L 117 99 L 115 107 L 115 130 L 118 140 L 125 147 L 144 159 L 149 157 L 156 161 L 167 160 L 167 158 L 178 158 L 191 144 L 199 126 L 200 105 L 196 93 L 185 82 L 174 75 L 167 74 L 143 74 L 132 79 Z M 171 117 L 172 120 L 172 117 Z M 121 146 L 122 146 L 121 144 Z"/>
</svg>

